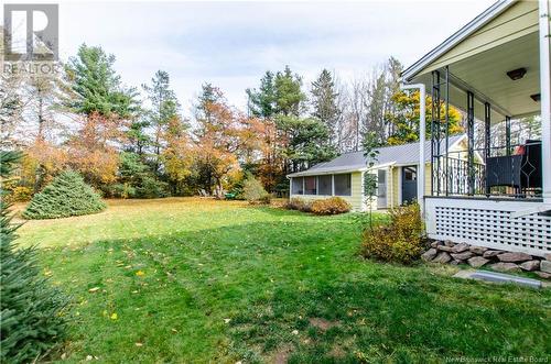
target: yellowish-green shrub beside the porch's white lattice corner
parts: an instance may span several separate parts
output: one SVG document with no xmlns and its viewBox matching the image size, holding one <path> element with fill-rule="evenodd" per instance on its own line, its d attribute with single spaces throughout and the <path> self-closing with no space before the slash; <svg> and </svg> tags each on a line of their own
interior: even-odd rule
<svg viewBox="0 0 551 364">
<path fill-rule="evenodd" d="M 390 210 L 390 223 L 364 231 L 361 255 L 385 262 L 409 264 L 423 251 L 423 224 L 419 205 Z"/>
</svg>

